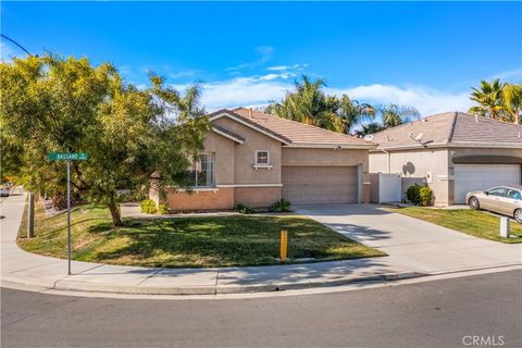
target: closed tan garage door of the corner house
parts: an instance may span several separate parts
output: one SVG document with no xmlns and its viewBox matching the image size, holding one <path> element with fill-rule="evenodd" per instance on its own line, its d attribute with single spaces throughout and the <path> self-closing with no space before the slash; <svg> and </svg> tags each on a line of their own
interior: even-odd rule
<svg viewBox="0 0 522 348">
<path fill-rule="evenodd" d="M 357 166 L 284 165 L 282 182 L 294 204 L 357 202 Z"/>
</svg>

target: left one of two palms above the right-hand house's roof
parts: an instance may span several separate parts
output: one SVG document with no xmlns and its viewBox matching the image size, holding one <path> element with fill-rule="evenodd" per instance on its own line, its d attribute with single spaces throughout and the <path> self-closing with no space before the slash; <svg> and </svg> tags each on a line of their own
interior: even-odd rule
<svg viewBox="0 0 522 348">
<path fill-rule="evenodd" d="M 476 101 L 478 105 L 472 107 L 470 112 L 483 117 L 499 120 L 504 111 L 500 80 L 495 78 L 493 84 L 481 80 L 481 88 L 473 87 L 472 89 L 470 99 Z"/>
</svg>

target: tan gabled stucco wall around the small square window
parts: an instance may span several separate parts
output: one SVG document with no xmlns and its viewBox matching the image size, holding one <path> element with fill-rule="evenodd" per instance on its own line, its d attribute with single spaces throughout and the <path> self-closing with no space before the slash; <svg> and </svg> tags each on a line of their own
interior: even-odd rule
<svg viewBox="0 0 522 348">
<path fill-rule="evenodd" d="M 213 121 L 245 138 L 234 147 L 235 184 L 281 184 L 281 142 L 227 117 Z M 270 151 L 272 169 L 254 169 L 256 150 Z"/>
</svg>

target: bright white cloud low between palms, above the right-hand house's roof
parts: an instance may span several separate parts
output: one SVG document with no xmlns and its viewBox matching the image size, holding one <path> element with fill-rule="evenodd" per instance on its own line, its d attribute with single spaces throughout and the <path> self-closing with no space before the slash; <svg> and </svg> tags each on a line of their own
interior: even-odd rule
<svg viewBox="0 0 522 348">
<path fill-rule="evenodd" d="M 366 85 L 351 88 L 326 88 L 328 94 L 347 94 L 350 98 L 374 104 L 414 107 L 422 116 L 447 111 L 467 112 L 473 102 L 470 92 L 450 94 L 425 86 L 398 87 L 394 85 Z"/>
</svg>

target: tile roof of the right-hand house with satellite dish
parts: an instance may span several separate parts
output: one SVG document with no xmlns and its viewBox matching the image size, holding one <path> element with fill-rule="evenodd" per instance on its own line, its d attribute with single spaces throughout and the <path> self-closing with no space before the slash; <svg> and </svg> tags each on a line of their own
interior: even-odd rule
<svg viewBox="0 0 522 348">
<path fill-rule="evenodd" d="M 522 127 L 517 124 L 446 112 L 376 133 L 373 142 L 378 144 L 377 149 L 483 144 L 522 147 L 521 132 Z M 421 133 L 422 145 L 412 139 Z"/>
</svg>

